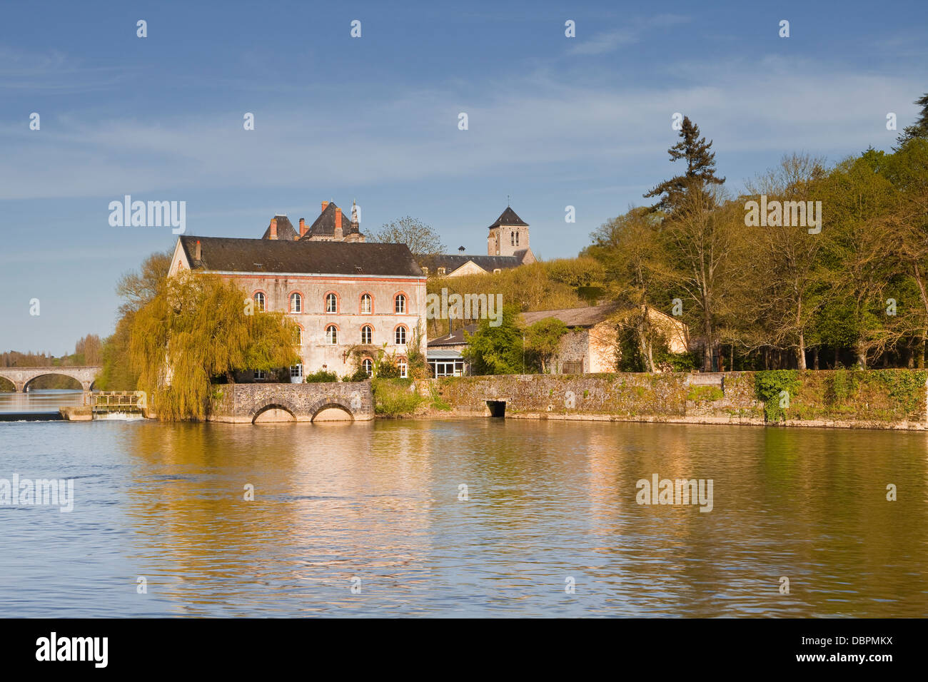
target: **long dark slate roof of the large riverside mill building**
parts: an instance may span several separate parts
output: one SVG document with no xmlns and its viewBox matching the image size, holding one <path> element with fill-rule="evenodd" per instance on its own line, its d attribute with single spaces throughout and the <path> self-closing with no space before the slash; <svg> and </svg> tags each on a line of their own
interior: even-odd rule
<svg viewBox="0 0 928 682">
<path fill-rule="evenodd" d="M 194 270 L 422 277 L 406 244 L 193 236 L 179 239 Z M 202 260 L 194 261 L 198 241 Z"/>
</svg>

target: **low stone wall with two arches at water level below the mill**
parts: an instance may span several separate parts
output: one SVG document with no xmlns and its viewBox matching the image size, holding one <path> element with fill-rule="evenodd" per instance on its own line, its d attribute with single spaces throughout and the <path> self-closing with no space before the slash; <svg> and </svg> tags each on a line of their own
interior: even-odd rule
<svg viewBox="0 0 928 682">
<path fill-rule="evenodd" d="M 213 392 L 210 421 L 255 424 L 374 418 L 370 381 L 214 384 Z"/>
</svg>

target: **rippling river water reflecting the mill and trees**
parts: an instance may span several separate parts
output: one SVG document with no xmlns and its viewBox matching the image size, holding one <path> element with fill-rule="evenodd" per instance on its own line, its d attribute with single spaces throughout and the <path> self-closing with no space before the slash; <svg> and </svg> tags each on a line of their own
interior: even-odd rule
<svg viewBox="0 0 928 682">
<path fill-rule="evenodd" d="M 928 615 L 924 433 L 0 422 L 14 474 L 74 501 L 0 505 L 7 616 Z"/>
</svg>

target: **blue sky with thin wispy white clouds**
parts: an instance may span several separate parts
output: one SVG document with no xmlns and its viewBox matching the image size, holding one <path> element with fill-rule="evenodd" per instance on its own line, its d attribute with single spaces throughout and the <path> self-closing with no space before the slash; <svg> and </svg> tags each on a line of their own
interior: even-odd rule
<svg viewBox="0 0 928 682">
<path fill-rule="evenodd" d="M 549 259 L 674 174 L 676 111 L 731 192 L 785 153 L 889 149 L 886 113 L 928 91 L 928 4 L 753 5 L 4 3 L 0 350 L 111 332 L 116 279 L 175 239 L 111 227 L 125 194 L 228 237 L 356 199 L 362 231 L 409 214 L 474 253 L 511 195 Z"/>
</svg>

